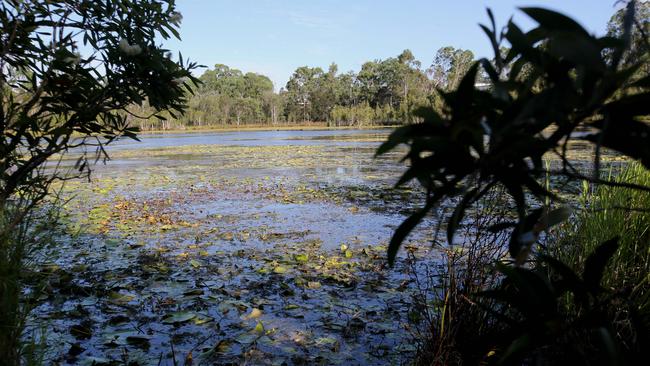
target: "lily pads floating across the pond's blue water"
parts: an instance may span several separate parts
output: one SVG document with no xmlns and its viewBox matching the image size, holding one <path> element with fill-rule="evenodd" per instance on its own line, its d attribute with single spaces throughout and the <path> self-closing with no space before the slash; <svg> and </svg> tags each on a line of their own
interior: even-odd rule
<svg viewBox="0 0 650 366">
<path fill-rule="evenodd" d="M 319 143 L 118 150 L 67 185 L 65 235 L 38 254 L 34 280 L 30 324 L 47 325 L 48 360 L 411 357 L 411 266 L 388 268 L 385 252 L 408 209 L 398 201 L 417 192 L 389 189 L 399 171 L 374 143 Z"/>
</svg>

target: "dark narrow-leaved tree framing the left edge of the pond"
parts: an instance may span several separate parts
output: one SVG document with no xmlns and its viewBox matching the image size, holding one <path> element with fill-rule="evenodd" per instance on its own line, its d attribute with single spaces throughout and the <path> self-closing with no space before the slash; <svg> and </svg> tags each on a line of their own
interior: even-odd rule
<svg viewBox="0 0 650 366">
<path fill-rule="evenodd" d="M 173 0 L 0 5 L 0 299 L 13 299 L 0 309 L 3 362 L 20 362 L 18 276 L 34 244 L 16 232 L 33 230 L 24 225 L 54 181 L 89 174 L 93 159 L 108 158 L 106 144 L 136 138 L 132 105 L 146 102 L 158 118 L 184 111 L 196 65 L 155 44 L 178 37 L 181 19 Z M 75 171 L 48 169 L 67 153 L 80 155 Z"/>
</svg>

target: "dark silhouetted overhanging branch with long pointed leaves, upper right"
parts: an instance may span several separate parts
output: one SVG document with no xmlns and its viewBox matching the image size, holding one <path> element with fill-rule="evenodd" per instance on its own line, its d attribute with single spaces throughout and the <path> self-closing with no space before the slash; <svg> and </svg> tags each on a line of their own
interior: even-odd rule
<svg viewBox="0 0 650 366">
<path fill-rule="evenodd" d="M 641 64 L 620 65 L 626 39 L 597 38 L 572 19 L 549 10 L 522 10 L 538 27 L 523 33 L 510 22 L 502 39 L 494 24 L 492 30 L 483 26 L 494 46 L 495 64 L 486 59 L 475 63 L 456 90 L 441 91 L 448 106 L 444 114 L 433 108 L 420 109 L 423 123 L 398 128 L 378 149 L 380 155 L 399 144 L 409 145 L 405 159 L 411 165 L 397 185 L 417 179 L 427 190 L 425 206 L 393 236 L 391 262 L 408 233 L 443 198 L 462 195 L 448 218 L 448 240 L 452 242 L 466 208 L 502 186 L 515 203 L 518 221 L 503 223 L 500 228 L 515 228 L 510 253 L 521 263 L 540 231 L 565 215 L 563 211 L 527 209 L 527 195 L 538 200 L 554 197 L 537 181 L 542 174 L 602 182 L 598 169 L 601 147 L 650 167 L 645 137 L 650 127 L 638 120 L 648 114 L 645 100 L 650 95 L 643 91 L 612 98 L 617 91 L 647 87 L 650 82 L 645 77 L 630 83 Z M 499 45 L 504 40 L 512 48 L 502 58 Z M 603 51 L 611 51 L 611 59 Z M 479 65 L 490 76 L 489 91 L 475 86 Z M 522 77 L 524 65 L 529 70 Z M 502 77 L 504 71 L 507 75 Z M 535 91 L 531 89 L 534 84 L 543 87 Z M 576 137 L 573 132 L 577 129 L 593 132 Z M 593 143 L 594 177 L 585 177 L 567 158 L 566 147 L 576 139 Z M 542 158 L 547 153 L 562 160 L 559 171 L 546 171 Z"/>
</svg>

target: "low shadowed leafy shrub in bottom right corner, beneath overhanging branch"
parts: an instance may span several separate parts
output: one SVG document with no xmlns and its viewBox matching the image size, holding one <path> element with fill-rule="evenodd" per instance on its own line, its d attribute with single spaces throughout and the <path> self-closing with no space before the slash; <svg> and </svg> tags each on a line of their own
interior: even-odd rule
<svg viewBox="0 0 650 366">
<path fill-rule="evenodd" d="M 620 352 L 608 310 L 634 311 L 621 294 L 601 286 L 618 238 L 600 244 L 578 275 L 561 261 L 541 255 L 534 268 L 497 264 L 505 276 L 500 285 L 480 293 L 499 301 L 493 317 L 507 324 L 493 342 L 499 364 L 620 364 L 639 353 Z M 568 300 L 567 300 L 568 299 Z M 564 304 L 569 302 L 572 311 Z M 637 339 L 638 345 L 643 339 Z M 631 350 L 627 350 L 631 351 Z M 638 351 L 638 350 L 636 350 Z"/>
</svg>

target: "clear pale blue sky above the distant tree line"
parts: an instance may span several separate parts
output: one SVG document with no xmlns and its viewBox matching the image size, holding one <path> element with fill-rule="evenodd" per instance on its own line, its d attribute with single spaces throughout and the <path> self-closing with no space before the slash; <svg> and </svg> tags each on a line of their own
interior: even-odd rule
<svg viewBox="0 0 650 366">
<path fill-rule="evenodd" d="M 164 45 L 183 58 L 213 67 L 226 64 L 267 75 L 276 90 L 300 66 L 358 71 L 366 61 L 410 49 L 428 67 L 444 46 L 491 57 L 478 24 L 497 25 L 511 16 L 524 29 L 534 25 L 517 8 L 543 6 L 578 20 L 602 35 L 615 0 L 177 0 L 183 14 L 181 41 Z M 201 74 L 203 71 L 199 71 Z"/>
</svg>

